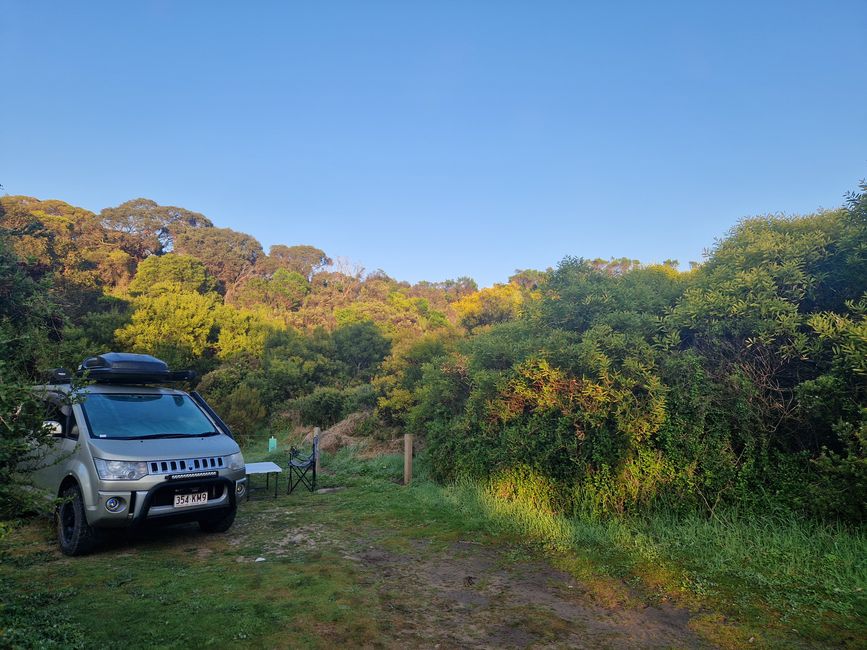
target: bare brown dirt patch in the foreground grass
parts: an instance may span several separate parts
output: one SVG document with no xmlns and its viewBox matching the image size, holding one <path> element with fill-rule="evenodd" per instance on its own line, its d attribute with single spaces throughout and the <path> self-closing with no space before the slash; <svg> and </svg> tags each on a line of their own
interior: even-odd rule
<svg viewBox="0 0 867 650">
<path fill-rule="evenodd" d="M 395 647 L 707 647 L 683 610 L 607 608 L 568 574 L 489 546 L 458 542 L 433 554 L 371 547 L 347 558 L 379 592 L 391 630 L 383 641 Z"/>
</svg>

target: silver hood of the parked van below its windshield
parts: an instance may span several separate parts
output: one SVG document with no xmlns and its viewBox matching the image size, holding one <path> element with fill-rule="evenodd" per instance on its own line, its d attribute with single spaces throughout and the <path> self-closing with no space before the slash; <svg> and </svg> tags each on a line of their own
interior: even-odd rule
<svg viewBox="0 0 867 650">
<path fill-rule="evenodd" d="M 91 438 L 90 448 L 96 458 L 136 461 L 228 456 L 241 451 L 237 442 L 222 434 L 203 438 L 158 438 L 156 440 Z"/>
</svg>

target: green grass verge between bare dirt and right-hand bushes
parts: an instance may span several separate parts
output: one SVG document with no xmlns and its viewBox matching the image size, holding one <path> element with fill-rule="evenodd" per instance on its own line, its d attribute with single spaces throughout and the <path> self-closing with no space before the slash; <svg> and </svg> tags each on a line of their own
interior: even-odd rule
<svg viewBox="0 0 867 650">
<path fill-rule="evenodd" d="M 503 500 L 492 486 L 451 488 L 501 531 L 572 560 L 585 577 L 617 576 L 693 609 L 712 608 L 784 639 L 857 644 L 867 634 L 867 536 L 840 526 L 776 516 L 656 513 L 567 519 Z M 581 569 L 583 567 L 583 569 Z M 752 636 L 752 635 L 751 635 Z"/>
</svg>

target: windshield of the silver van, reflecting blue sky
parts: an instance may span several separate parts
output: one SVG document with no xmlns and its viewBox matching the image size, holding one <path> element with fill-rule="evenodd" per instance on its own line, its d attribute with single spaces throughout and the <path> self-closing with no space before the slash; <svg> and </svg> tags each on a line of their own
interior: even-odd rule
<svg viewBox="0 0 867 650">
<path fill-rule="evenodd" d="M 82 404 L 93 438 L 189 438 L 217 435 L 186 395 L 90 394 Z"/>
</svg>

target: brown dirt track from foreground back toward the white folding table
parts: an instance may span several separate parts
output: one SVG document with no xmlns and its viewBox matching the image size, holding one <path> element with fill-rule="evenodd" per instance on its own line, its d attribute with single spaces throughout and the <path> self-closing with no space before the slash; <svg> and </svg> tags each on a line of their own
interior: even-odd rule
<svg viewBox="0 0 867 650">
<path fill-rule="evenodd" d="M 341 526 L 333 520 L 280 525 L 271 513 L 285 517 L 281 523 L 302 514 L 259 510 L 230 531 L 229 545 L 243 546 L 270 528 L 262 549 L 266 558 L 315 550 L 350 563 L 365 591 L 378 595 L 370 606 L 380 610 L 374 641 L 379 647 L 710 647 L 690 629 L 688 611 L 642 605 L 640 597 L 626 598 L 627 604 L 600 596 L 544 559 L 528 557 L 525 549 L 476 541 L 444 546 L 345 520 Z M 281 534 L 274 535 L 275 528 Z"/>
</svg>

